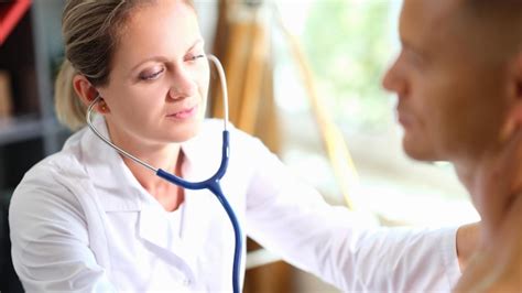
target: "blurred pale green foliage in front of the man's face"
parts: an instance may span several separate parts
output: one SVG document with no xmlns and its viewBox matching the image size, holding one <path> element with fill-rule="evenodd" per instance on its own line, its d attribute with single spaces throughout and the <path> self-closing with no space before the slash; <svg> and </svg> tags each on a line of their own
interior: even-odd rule
<svg viewBox="0 0 522 293">
<path fill-rule="evenodd" d="M 302 36 L 320 95 L 342 124 L 379 129 L 392 119 L 381 77 L 391 52 L 391 1 L 317 0 Z"/>
</svg>

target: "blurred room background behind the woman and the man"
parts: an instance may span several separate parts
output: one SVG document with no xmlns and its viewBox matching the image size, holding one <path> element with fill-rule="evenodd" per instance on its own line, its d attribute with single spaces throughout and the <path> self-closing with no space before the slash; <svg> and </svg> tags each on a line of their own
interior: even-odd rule
<svg viewBox="0 0 522 293">
<path fill-rule="evenodd" d="M 56 121 L 65 0 L 0 0 L 0 291 L 12 271 L 8 206 L 23 174 L 70 133 Z M 475 221 L 450 165 L 411 161 L 380 82 L 398 54 L 400 0 L 196 0 L 207 52 L 224 63 L 230 119 L 325 199 L 362 221 Z M 208 116 L 221 113 L 213 88 Z M 244 292 L 338 292 L 249 241 Z"/>
</svg>

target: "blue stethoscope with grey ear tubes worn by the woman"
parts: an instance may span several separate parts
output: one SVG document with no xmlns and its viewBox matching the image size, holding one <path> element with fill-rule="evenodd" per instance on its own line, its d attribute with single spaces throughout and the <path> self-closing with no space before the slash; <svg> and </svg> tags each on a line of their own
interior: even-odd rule
<svg viewBox="0 0 522 293">
<path fill-rule="evenodd" d="M 219 62 L 218 58 L 216 58 L 214 55 L 207 55 L 207 58 L 213 61 L 214 64 L 216 65 L 218 75 L 219 75 L 219 80 L 221 84 L 221 90 L 222 90 L 222 99 L 224 99 L 224 108 L 225 108 L 225 118 L 224 118 L 224 130 L 222 130 L 222 146 L 221 146 L 221 164 L 219 165 L 218 171 L 214 176 L 206 181 L 202 182 L 188 182 L 185 181 L 174 174 L 171 174 L 162 169 L 155 169 L 151 166 L 150 164 L 143 162 L 142 160 L 135 158 L 134 155 L 126 152 L 118 145 L 113 144 L 111 141 L 109 141 L 106 137 L 104 137 L 93 124 L 93 109 L 95 105 L 101 99 L 100 96 L 98 96 L 88 107 L 87 109 L 87 123 L 93 130 L 93 132 L 100 138 L 104 142 L 106 142 L 108 145 L 117 150 L 120 154 L 131 159 L 132 161 L 137 162 L 138 164 L 151 170 L 154 172 L 157 176 L 176 184 L 180 187 L 187 188 L 187 189 L 209 189 L 216 197 L 219 199 L 221 203 L 222 207 L 227 211 L 228 217 L 230 218 L 230 221 L 232 223 L 233 227 L 233 234 L 236 237 L 236 248 L 233 251 L 233 268 L 232 268 L 232 289 L 235 293 L 239 293 L 239 267 L 241 264 L 241 246 L 242 246 L 242 236 L 241 236 L 241 228 L 239 227 L 238 219 L 236 217 L 236 214 L 233 214 L 233 210 L 228 203 L 227 198 L 222 194 L 221 185 L 219 184 L 219 181 L 225 176 L 227 172 L 227 166 L 228 166 L 228 159 L 230 156 L 230 140 L 229 140 L 229 133 L 227 130 L 227 123 L 228 123 L 228 90 L 227 90 L 227 80 L 225 77 L 225 70 L 222 69 L 221 63 Z"/>
</svg>

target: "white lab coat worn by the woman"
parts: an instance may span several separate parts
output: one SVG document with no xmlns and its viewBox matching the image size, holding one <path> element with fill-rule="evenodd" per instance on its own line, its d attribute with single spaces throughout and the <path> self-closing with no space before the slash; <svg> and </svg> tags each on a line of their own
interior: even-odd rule
<svg viewBox="0 0 522 293">
<path fill-rule="evenodd" d="M 105 120 L 96 124 L 107 135 Z M 206 121 L 183 143 L 187 180 L 217 170 L 221 127 Z M 361 227 L 259 140 L 236 129 L 230 138 L 222 189 L 243 231 L 290 263 L 344 291 L 447 292 L 459 278 L 455 229 Z M 30 292 L 231 291 L 233 231 L 214 195 L 186 191 L 182 208 L 165 211 L 88 129 L 25 174 L 9 221 L 14 268 Z"/>
</svg>

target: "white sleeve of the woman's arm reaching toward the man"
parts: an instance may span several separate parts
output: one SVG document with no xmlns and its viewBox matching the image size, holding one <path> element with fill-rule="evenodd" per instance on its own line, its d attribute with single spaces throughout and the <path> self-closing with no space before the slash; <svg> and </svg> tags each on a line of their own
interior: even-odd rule
<svg viewBox="0 0 522 293">
<path fill-rule="evenodd" d="M 449 292 L 456 228 L 369 228 L 296 181 L 261 143 L 247 198 L 249 236 L 345 292 Z"/>
</svg>

